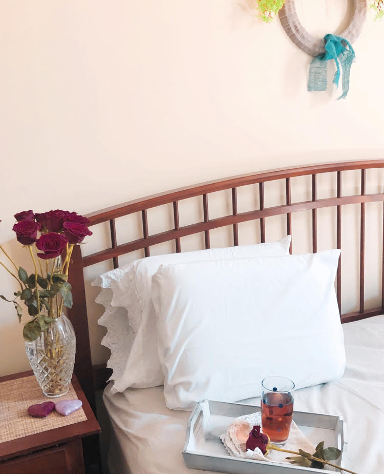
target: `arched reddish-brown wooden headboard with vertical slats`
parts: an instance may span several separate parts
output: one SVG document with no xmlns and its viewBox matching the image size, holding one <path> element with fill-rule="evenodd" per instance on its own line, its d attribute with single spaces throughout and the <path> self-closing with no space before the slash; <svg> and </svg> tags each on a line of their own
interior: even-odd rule
<svg viewBox="0 0 384 474">
<path fill-rule="evenodd" d="M 352 161 L 344 163 L 327 163 L 296 168 L 284 168 L 272 171 L 265 171 L 253 174 L 229 177 L 227 179 L 210 181 L 196 186 L 189 186 L 169 192 L 155 194 L 147 198 L 130 201 L 124 204 L 102 209 L 88 215 L 91 225 L 103 222 L 110 223 L 111 247 L 92 255 L 82 256 L 80 246 L 75 246 L 72 259 L 72 271 L 70 282 L 73 291 L 73 307 L 69 312 L 69 317 L 75 328 L 77 338 L 77 350 L 75 361 L 75 373 L 86 396 L 93 408 L 95 408 L 94 391 L 95 387 L 101 386 L 109 377 L 105 365 L 92 367 L 91 349 L 88 331 L 88 317 L 86 305 L 86 293 L 84 286 L 83 268 L 96 263 L 113 259 L 114 268 L 119 265 L 119 255 L 129 253 L 138 249 L 144 249 L 145 256 L 150 255 L 152 245 L 162 242 L 175 241 L 176 252 L 181 252 L 180 238 L 198 232 L 205 233 L 205 247 L 209 248 L 209 231 L 223 226 L 232 226 L 233 245 L 238 245 L 238 224 L 240 222 L 260 219 L 261 242 L 265 242 L 265 219 L 269 216 L 286 214 L 287 234 L 293 233 L 291 225 L 291 213 L 303 210 L 312 210 L 312 250 L 317 251 L 317 217 L 316 210 L 319 208 L 336 207 L 336 239 L 337 247 L 342 248 L 342 206 L 346 204 L 360 204 L 360 268 L 359 268 L 359 311 L 343 314 L 342 322 L 356 321 L 368 318 L 384 311 L 384 272 L 381 285 L 381 306 L 379 308 L 365 310 L 364 306 L 364 255 L 365 255 L 365 205 L 368 202 L 384 202 L 384 193 L 366 194 L 366 170 L 370 168 L 384 168 L 384 160 Z M 342 195 L 342 172 L 348 170 L 360 170 L 361 188 L 356 195 Z M 316 176 L 320 173 L 337 174 L 337 195 L 328 199 L 317 199 L 316 197 Z M 312 200 L 298 203 L 291 203 L 291 178 L 295 176 L 312 176 Z M 285 180 L 286 204 L 275 207 L 264 206 L 264 183 L 275 180 Z M 260 209 L 238 213 L 237 210 L 237 188 L 247 185 L 259 185 Z M 232 213 L 218 219 L 209 219 L 208 194 L 215 191 L 228 190 L 232 192 Z M 197 224 L 180 227 L 178 202 L 183 199 L 201 196 L 204 210 L 204 221 Z M 174 229 L 154 235 L 148 235 L 147 209 L 173 204 Z M 122 216 L 141 212 L 143 237 L 141 239 L 127 242 L 122 245 L 116 243 L 115 219 Z M 384 211 L 383 211 L 384 212 Z M 383 232 L 384 234 L 384 232 Z M 294 238 L 294 234 L 292 235 Z M 383 239 L 384 248 L 384 239 Z M 384 252 L 383 252 L 384 261 Z M 384 263 L 384 262 L 383 262 Z M 336 277 L 336 294 L 339 309 L 341 308 L 341 265 L 340 258 Z M 384 268 L 384 265 L 383 265 Z"/>
</svg>

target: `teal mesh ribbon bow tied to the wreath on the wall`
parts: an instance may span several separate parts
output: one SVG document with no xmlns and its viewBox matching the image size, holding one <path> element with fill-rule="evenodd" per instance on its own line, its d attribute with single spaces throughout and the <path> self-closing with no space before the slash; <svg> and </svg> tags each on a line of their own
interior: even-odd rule
<svg viewBox="0 0 384 474">
<path fill-rule="evenodd" d="M 343 93 L 337 98 L 337 100 L 340 100 L 340 98 L 347 97 L 349 91 L 349 74 L 352 63 L 355 59 L 355 52 L 351 44 L 341 36 L 326 34 L 324 39 L 326 41 L 325 54 L 321 54 L 320 56 L 313 58 L 313 61 L 309 66 L 308 90 L 327 90 L 327 61 L 334 60 L 336 63 L 336 72 L 333 78 L 333 84 L 336 84 L 336 87 L 338 87 L 340 74 L 343 73 Z"/>
</svg>

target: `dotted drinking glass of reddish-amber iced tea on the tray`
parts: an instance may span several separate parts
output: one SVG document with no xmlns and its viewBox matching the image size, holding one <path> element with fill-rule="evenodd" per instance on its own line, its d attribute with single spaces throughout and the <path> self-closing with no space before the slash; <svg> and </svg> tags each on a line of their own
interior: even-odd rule
<svg viewBox="0 0 384 474">
<path fill-rule="evenodd" d="M 267 377 L 261 383 L 261 424 L 271 442 L 283 445 L 289 436 L 295 384 L 285 377 Z"/>
</svg>

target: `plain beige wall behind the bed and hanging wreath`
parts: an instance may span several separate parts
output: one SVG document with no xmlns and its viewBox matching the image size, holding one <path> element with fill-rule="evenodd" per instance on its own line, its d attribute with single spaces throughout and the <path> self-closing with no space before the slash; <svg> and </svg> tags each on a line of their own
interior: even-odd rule
<svg viewBox="0 0 384 474">
<path fill-rule="evenodd" d="M 226 175 L 383 156 L 384 24 L 369 15 L 350 94 L 332 102 L 306 91 L 309 57 L 250 3 L 0 3 L 0 236 L 22 265 L 11 231 L 20 210 L 86 213 Z M 297 3 L 316 33 L 347 8 L 326 16 L 329 2 Z M 16 288 L 4 271 L 0 283 L 6 295 Z M 107 355 L 100 312 L 94 362 Z M 0 301 L 0 314 L 0 374 L 27 369 L 14 311 Z"/>
</svg>

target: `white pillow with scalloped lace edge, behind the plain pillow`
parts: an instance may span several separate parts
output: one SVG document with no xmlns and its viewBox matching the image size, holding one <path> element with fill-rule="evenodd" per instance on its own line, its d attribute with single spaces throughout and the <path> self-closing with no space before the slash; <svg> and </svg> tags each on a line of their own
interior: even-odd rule
<svg viewBox="0 0 384 474">
<path fill-rule="evenodd" d="M 140 259 L 104 273 L 94 282 L 94 286 L 112 290 L 111 306 L 105 304 L 105 313 L 99 324 L 108 327 L 103 344 L 110 347 L 113 357 L 108 367 L 114 369 L 113 390 L 123 391 L 127 387 L 147 388 L 162 385 L 164 375 L 157 351 L 156 315 L 151 300 L 151 279 L 160 265 L 195 262 L 199 260 L 225 260 L 256 256 L 288 255 L 290 235 L 280 242 L 245 245 L 238 247 L 198 250 L 195 252 L 155 255 Z M 111 307 L 124 308 L 126 321 L 116 318 Z M 120 314 L 121 315 L 121 314 Z M 110 319 L 111 318 L 111 319 Z M 123 336 L 131 326 L 135 333 L 133 343 Z M 108 345 L 109 331 L 113 330 L 114 345 Z M 120 334 L 120 336 L 119 336 Z M 131 347 L 127 355 L 127 347 Z"/>
</svg>

